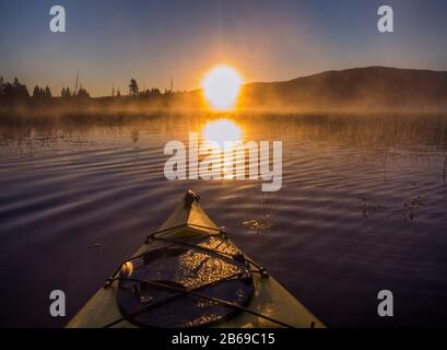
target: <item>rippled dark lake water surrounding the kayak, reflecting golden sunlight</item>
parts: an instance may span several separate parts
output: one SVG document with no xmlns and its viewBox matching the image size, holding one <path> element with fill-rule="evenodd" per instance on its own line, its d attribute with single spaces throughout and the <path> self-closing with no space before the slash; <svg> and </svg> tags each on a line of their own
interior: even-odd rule
<svg viewBox="0 0 447 350">
<path fill-rule="evenodd" d="M 189 187 L 329 327 L 447 325 L 447 117 L 99 119 L 0 125 L 0 326 L 64 325 Z M 165 143 L 216 119 L 283 141 L 280 191 L 165 178 Z M 48 313 L 55 289 L 66 318 Z M 393 317 L 377 315 L 380 290 Z"/>
</svg>

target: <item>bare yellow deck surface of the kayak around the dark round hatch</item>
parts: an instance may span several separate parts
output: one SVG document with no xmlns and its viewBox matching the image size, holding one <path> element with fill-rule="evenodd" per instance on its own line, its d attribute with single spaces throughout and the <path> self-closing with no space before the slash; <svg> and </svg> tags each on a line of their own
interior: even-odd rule
<svg viewBox="0 0 447 350">
<path fill-rule="evenodd" d="M 166 222 L 160 228 L 156 237 L 176 238 L 195 237 L 217 234 L 219 228 L 207 215 L 198 200 L 189 206 L 183 201 Z M 140 255 L 150 248 L 144 244 L 133 255 Z M 322 328 L 324 324 L 314 316 L 302 303 L 292 296 L 273 277 L 254 273 L 254 294 L 247 308 L 263 316 L 280 320 L 283 324 L 297 328 Z M 117 306 L 116 291 L 118 281 L 115 280 L 108 288 L 99 289 L 96 294 L 68 323 L 69 328 L 99 328 L 122 317 Z M 114 327 L 137 327 L 128 320 L 122 320 Z M 263 317 L 240 311 L 236 316 L 214 324 L 213 327 L 251 328 L 279 327 L 278 324 Z"/>
</svg>

